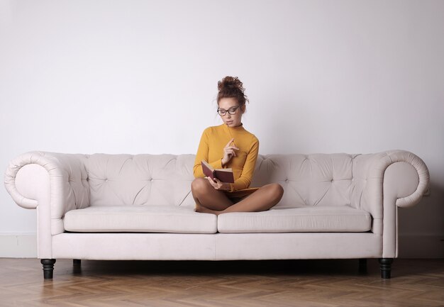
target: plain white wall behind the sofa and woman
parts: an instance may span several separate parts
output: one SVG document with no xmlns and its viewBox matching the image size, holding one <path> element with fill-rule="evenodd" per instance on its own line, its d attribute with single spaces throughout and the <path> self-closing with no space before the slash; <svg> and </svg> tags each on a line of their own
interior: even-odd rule
<svg viewBox="0 0 444 307">
<path fill-rule="evenodd" d="M 400 257 L 443 257 L 443 38 L 444 1 L 0 0 L 0 165 L 195 153 L 238 76 L 261 154 L 421 157 L 431 196 L 400 210 Z M 35 227 L 0 189 L 0 234 Z"/>
</svg>

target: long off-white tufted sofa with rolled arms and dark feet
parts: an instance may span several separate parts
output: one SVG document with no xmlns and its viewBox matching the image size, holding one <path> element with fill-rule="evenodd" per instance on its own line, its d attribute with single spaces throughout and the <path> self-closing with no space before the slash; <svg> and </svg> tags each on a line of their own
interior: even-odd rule
<svg viewBox="0 0 444 307">
<path fill-rule="evenodd" d="M 250 186 L 278 182 L 270 211 L 194 212 L 195 155 L 26 152 L 5 186 L 37 210 L 45 278 L 55 259 L 378 258 L 390 278 L 398 256 L 397 209 L 428 189 L 411 152 L 259 155 Z"/>
</svg>

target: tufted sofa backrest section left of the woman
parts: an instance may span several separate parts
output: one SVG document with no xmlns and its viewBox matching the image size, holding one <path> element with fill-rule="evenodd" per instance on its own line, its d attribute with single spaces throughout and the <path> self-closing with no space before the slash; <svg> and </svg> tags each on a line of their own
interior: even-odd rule
<svg viewBox="0 0 444 307">
<path fill-rule="evenodd" d="M 191 196 L 194 155 L 87 155 L 91 206 L 181 206 Z"/>
</svg>

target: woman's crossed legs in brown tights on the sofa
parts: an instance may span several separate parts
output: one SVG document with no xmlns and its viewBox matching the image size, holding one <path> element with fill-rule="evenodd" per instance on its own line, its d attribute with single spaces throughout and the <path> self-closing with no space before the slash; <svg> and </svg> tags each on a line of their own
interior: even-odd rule
<svg viewBox="0 0 444 307">
<path fill-rule="evenodd" d="M 221 214 L 228 212 L 266 211 L 279 203 L 284 195 L 280 184 L 266 184 L 254 193 L 233 203 L 223 191 L 213 188 L 206 178 L 192 182 L 192 194 L 196 201 L 196 212 Z"/>
</svg>

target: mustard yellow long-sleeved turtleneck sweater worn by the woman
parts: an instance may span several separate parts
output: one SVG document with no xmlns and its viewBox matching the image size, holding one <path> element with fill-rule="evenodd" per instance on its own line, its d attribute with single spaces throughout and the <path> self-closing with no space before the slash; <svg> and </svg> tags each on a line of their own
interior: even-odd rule
<svg viewBox="0 0 444 307">
<path fill-rule="evenodd" d="M 239 150 L 235 150 L 236 156 L 233 156 L 222 167 L 223 147 L 227 145 L 231 138 L 234 138 L 233 142 Z M 201 167 L 201 160 L 205 160 L 215 169 L 230 167 L 233 169 L 234 184 L 230 184 L 231 190 L 226 192 L 246 189 L 250 186 L 255 171 L 258 152 L 259 140 L 254 134 L 245 130 L 242 123 L 237 127 L 229 127 L 226 123 L 211 126 L 202 133 L 196 160 L 194 160 L 194 177 L 205 177 Z"/>
</svg>

